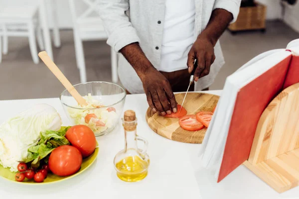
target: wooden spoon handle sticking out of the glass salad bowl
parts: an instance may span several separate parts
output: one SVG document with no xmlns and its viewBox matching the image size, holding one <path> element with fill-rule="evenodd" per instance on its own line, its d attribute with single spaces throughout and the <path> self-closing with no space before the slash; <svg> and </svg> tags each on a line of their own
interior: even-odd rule
<svg viewBox="0 0 299 199">
<path fill-rule="evenodd" d="M 73 85 L 66 79 L 59 68 L 54 64 L 51 58 L 48 56 L 46 51 L 38 53 L 40 59 L 45 63 L 45 65 L 52 71 L 56 78 L 61 82 L 61 84 L 68 90 L 68 92 L 74 97 L 74 99 L 81 105 L 87 105 L 86 100 L 77 92 Z"/>
</svg>

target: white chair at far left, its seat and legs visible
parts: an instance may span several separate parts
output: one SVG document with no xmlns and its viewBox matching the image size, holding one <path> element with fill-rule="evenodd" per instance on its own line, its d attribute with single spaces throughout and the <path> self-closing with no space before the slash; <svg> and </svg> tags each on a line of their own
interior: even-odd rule
<svg viewBox="0 0 299 199">
<path fill-rule="evenodd" d="M 39 48 L 44 50 L 41 28 L 38 18 L 38 4 L 27 6 L 0 7 L 0 29 L 3 38 L 3 54 L 8 52 L 8 37 L 28 37 L 32 60 L 39 63 L 36 37 Z"/>
</svg>

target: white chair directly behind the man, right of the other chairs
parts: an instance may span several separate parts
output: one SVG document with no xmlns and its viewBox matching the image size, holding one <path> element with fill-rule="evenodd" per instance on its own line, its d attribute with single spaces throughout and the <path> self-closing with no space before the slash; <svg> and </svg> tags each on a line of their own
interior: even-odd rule
<svg viewBox="0 0 299 199">
<path fill-rule="evenodd" d="M 103 22 L 97 13 L 99 0 L 69 0 L 73 18 L 73 32 L 76 51 L 77 67 L 80 70 L 82 83 L 87 81 L 84 59 L 83 41 L 107 40 L 108 36 L 104 30 Z M 80 6 L 78 6 L 81 3 Z M 80 10 L 78 11 L 78 7 Z M 83 8 L 86 9 L 83 10 Z M 79 13 L 80 12 L 80 13 Z M 117 53 L 111 48 L 112 82 L 118 82 Z"/>
</svg>

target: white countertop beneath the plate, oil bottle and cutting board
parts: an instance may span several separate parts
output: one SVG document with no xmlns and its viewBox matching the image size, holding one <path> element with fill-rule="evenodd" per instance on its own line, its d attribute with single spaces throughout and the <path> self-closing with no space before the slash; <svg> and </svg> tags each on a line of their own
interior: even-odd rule
<svg viewBox="0 0 299 199">
<path fill-rule="evenodd" d="M 221 91 L 209 91 L 220 95 Z M 59 99 L 0 101 L 0 123 L 36 103 L 48 103 L 61 114 L 63 125 L 70 125 Z M 0 178 L 0 198 L 10 199 L 299 199 L 299 187 L 278 194 L 245 166 L 238 167 L 220 183 L 214 174 L 202 169 L 200 144 L 165 139 L 148 126 L 145 95 L 129 95 L 124 110 L 133 109 L 138 118 L 137 133 L 149 141 L 149 174 L 141 182 L 119 180 L 114 156 L 124 148 L 121 121 L 110 134 L 97 137 L 99 154 L 95 163 L 81 175 L 49 185 L 17 184 Z"/>
</svg>

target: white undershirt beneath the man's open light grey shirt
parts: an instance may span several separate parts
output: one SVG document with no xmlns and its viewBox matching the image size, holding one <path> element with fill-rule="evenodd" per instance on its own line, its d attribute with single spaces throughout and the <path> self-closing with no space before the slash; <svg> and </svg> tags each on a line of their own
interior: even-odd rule
<svg viewBox="0 0 299 199">
<path fill-rule="evenodd" d="M 166 0 L 159 71 L 187 68 L 194 42 L 195 0 Z"/>
</svg>

